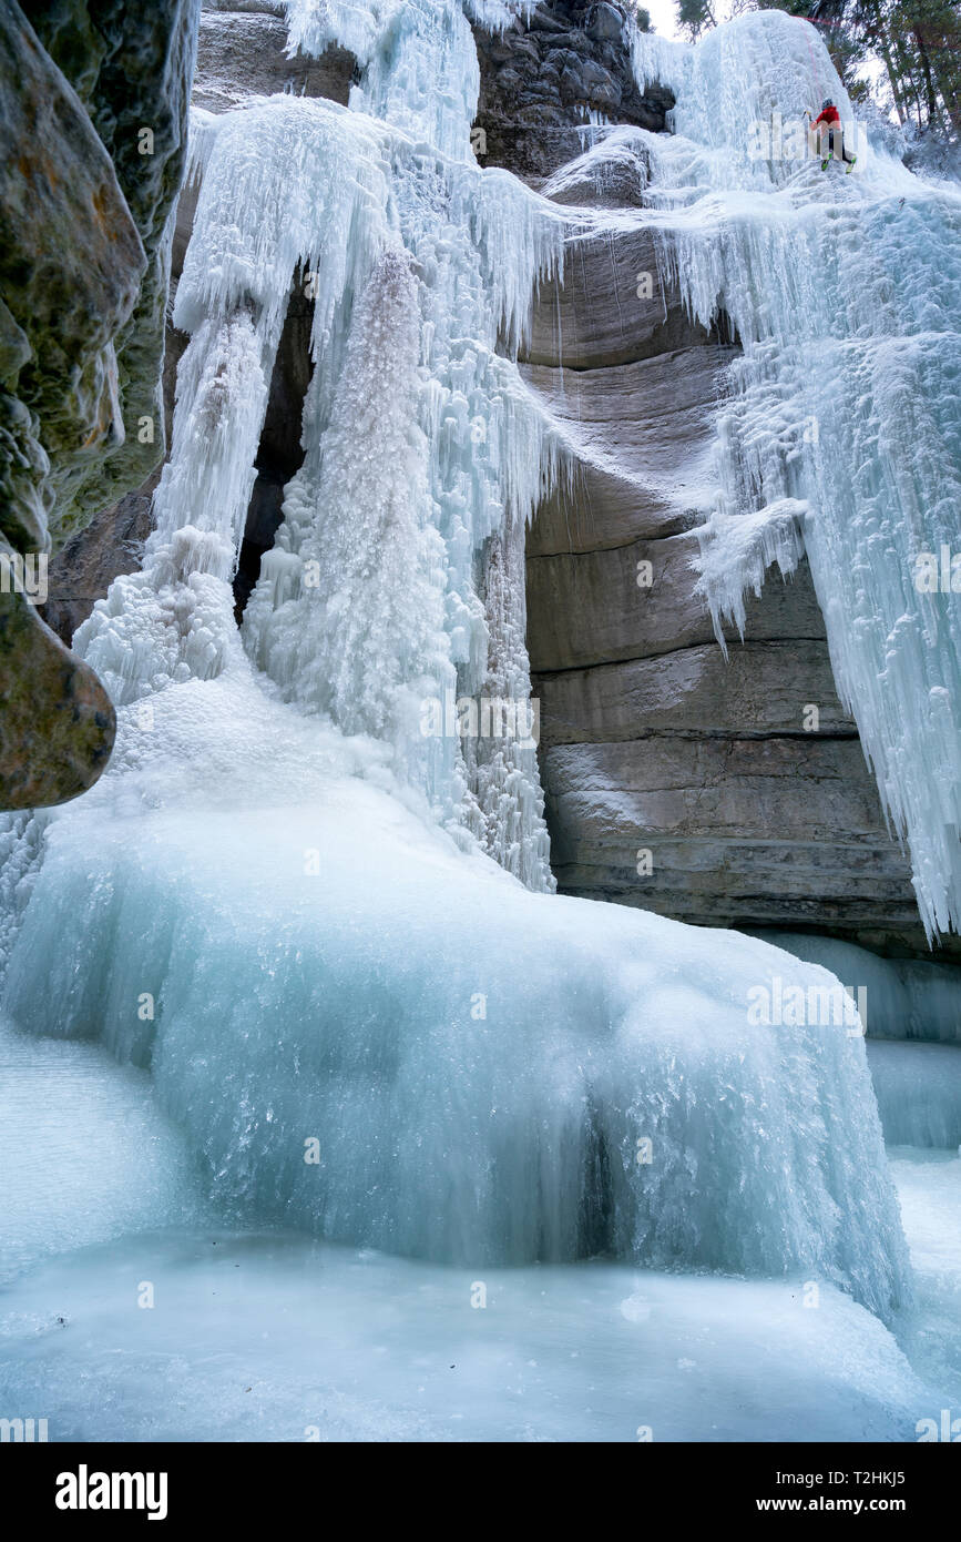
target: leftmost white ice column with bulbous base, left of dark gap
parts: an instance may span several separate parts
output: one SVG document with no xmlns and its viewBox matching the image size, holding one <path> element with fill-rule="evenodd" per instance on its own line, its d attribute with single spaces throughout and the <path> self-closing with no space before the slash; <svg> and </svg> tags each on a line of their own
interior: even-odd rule
<svg viewBox="0 0 961 1542">
<path fill-rule="evenodd" d="M 322 276 L 316 330 L 328 335 L 376 251 L 377 151 L 345 113 L 288 99 L 200 125 L 203 197 L 174 308 L 191 342 L 154 532 L 143 569 L 112 584 L 74 640 L 120 705 L 213 678 L 242 652 L 229 581 L 293 273 L 310 254 Z"/>
</svg>

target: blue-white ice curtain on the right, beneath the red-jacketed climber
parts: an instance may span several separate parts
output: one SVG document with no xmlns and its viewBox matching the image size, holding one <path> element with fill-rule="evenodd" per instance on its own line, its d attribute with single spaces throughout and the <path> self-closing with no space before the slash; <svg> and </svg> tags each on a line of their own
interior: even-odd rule
<svg viewBox="0 0 961 1542">
<path fill-rule="evenodd" d="M 805 22 L 773 11 L 695 48 L 641 32 L 633 46 L 639 77 L 678 97 L 675 136 L 647 136 L 645 219 L 693 315 L 724 308 L 744 345 L 702 530 L 718 635 L 725 617 L 742 626 L 765 567 L 787 574 L 807 550 L 921 916 L 929 934 L 956 930 L 961 598 L 916 580 L 924 554 L 961 550 L 961 194 L 855 134 Z M 853 176 L 804 153 L 802 113 L 822 97 L 847 123 Z"/>
</svg>

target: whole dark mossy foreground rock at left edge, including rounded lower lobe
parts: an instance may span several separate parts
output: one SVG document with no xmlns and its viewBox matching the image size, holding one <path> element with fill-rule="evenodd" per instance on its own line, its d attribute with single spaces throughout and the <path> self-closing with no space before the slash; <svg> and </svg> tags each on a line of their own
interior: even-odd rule
<svg viewBox="0 0 961 1542">
<path fill-rule="evenodd" d="M 0 0 L 0 808 L 75 797 L 112 748 L 106 694 L 15 563 L 45 563 L 163 453 L 163 236 L 196 12 Z"/>
</svg>

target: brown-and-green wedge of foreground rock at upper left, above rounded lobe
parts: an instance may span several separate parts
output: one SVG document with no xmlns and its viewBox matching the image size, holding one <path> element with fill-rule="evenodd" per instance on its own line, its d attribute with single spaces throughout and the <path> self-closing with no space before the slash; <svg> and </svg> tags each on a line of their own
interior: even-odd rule
<svg viewBox="0 0 961 1542">
<path fill-rule="evenodd" d="M 146 258 L 111 159 L 75 93 L 3 0 L 5 509 L 46 550 L 77 481 L 122 438 L 114 338 Z"/>
</svg>

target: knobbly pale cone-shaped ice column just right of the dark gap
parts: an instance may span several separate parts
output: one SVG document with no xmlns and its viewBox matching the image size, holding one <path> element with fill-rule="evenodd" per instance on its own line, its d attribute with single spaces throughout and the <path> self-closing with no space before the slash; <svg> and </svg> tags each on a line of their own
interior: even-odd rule
<svg viewBox="0 0 961 1542">
<path fill-rule="evenodd" d="M 326 432 L 308 424 L 245 618 L 251 655 L 286 700 L 396 743 L 408 771 L 422 699 L 434 682 L 453 686 L 444 543 L 428 521 L 417 424 L 419 322 L 407 256 L 388 250 L 357 301 Z"/>
</svg>

